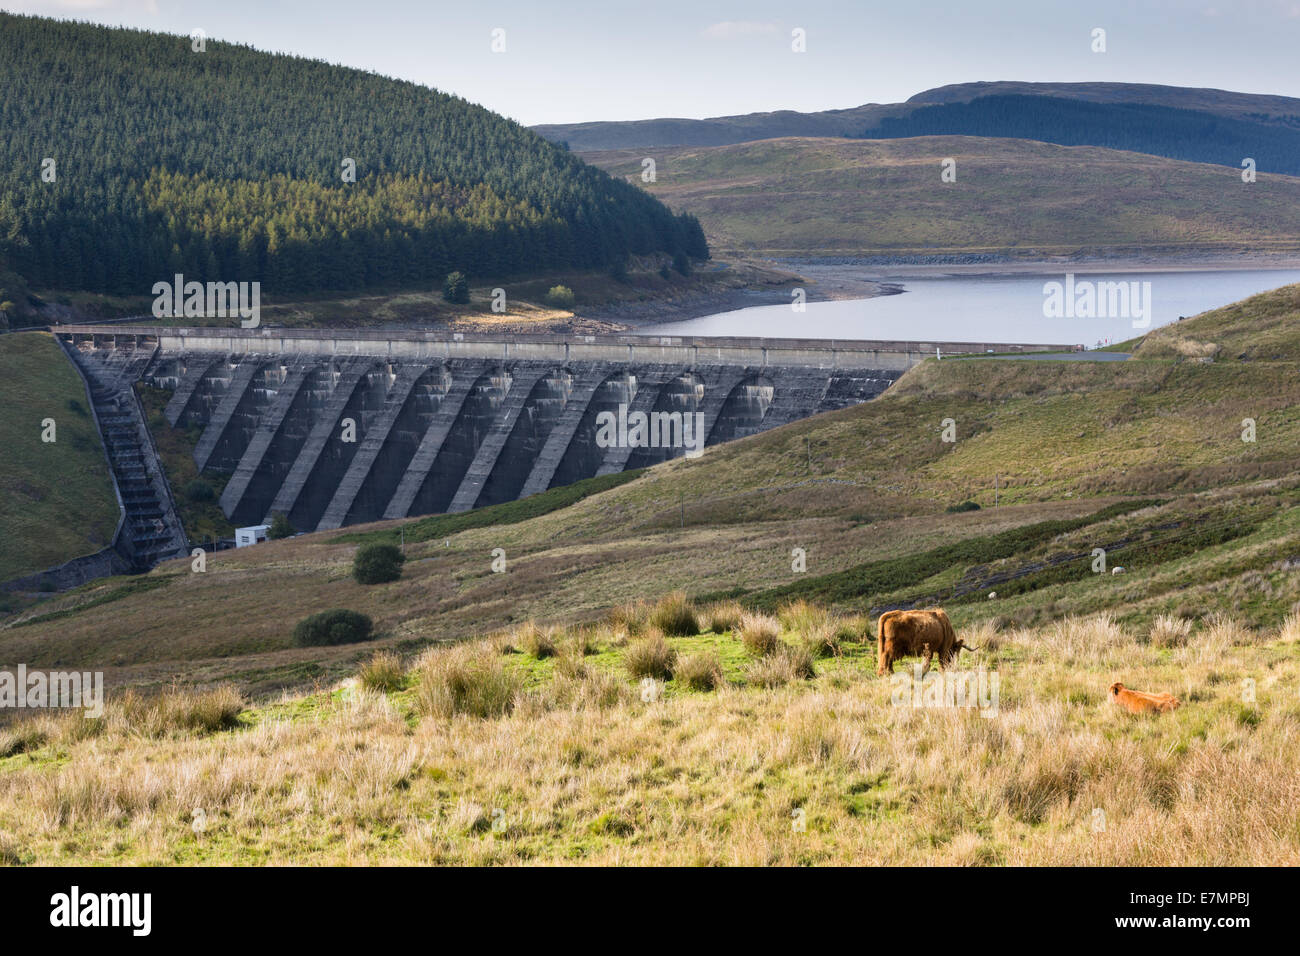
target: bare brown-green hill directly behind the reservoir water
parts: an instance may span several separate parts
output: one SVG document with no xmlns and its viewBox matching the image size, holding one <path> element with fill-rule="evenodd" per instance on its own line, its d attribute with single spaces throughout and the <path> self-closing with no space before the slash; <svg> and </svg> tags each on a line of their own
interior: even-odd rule
<svg viewBox="0 0 1300 956">
<path fill-rule="evenodd" d="M 763 255 L 1247 251 L 1300 247 L 1300 178 L 1015 139 L 772 139 L 586 157 Z M 940 163 L 957 161 L 957 182 Z"/>
</svg>

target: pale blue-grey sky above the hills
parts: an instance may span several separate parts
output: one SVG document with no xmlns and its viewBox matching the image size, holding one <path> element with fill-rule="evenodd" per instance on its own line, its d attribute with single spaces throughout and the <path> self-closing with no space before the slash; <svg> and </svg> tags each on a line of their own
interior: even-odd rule
<svg viewBox="0 0 1300 956">
<path fill-rule="evenodd" d="M 1300 96 L 1300 0 L 0 0 L 374 70 L 524 124 L 894 103 L 978 79 Z M 1106 52 L 1091 49 L 1095 27 Z M 493 30 L 506 51 L 491 51 Z M 790 49 L 802 29 L 807 51 Z"/>
</svg>

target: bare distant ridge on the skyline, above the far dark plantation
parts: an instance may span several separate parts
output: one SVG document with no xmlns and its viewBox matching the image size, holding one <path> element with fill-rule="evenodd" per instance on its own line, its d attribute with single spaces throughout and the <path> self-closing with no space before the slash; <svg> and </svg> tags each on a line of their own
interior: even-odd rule
<svg viewBox="0 0 1300 956">
<path fill-rule="evenodd" d="M 1023 83 L 1015 81 L 954 83 L 926 90 L 906 103 L 868 103 L 812 113 L 777 111 L 718 116 L 707 120 L 660 118 L 593 121 L 534 126 L 534 131 L 575 151 L 645 150 L 670 146 L 729 146 L 781 137 L 857 137 L 889 118 L 909 117 L 930 104 L 970 103 L 982 96 L 1035 95 L 1097 104 L 1143 104 L 1197 111 L 1264 126 L 1295 129 L 1300 100 L 1291 96 L 1202 90 L 1152 83 Z M 954 130 L 956 131 L 956 130 Z M 987 133 L 985 135 L 1014 135 Z M 1238 157 L 1240 160 L 1240 157 Z M 1274 170 L 1282 172 L 1282 170 Z"/>
</svg>

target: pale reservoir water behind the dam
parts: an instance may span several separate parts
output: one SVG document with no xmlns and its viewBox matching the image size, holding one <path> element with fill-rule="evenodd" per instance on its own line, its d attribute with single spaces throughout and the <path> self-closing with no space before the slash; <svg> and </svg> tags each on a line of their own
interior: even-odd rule
<svg viewBox="0 0 1300 956">
<path fill-rule="evenodd" d="M 810 302 L 802 313 L 790 306 L 758 306 L 676 323 L 644 326 L 644 334 L 671 336 L 760 336 L 764 338 L 866 338 L 883 341 L 1008 342 L 1084 345 L 1095 347 L 1123 342 L 1143 332 L 1226 306 L 1254 293 L 1300 282 L 1300 269 L 1074 273 L 1078 308 L 1045 313 L 1044 285 L 1062 286 L 1066 274 L 1037 276 L 935 276 L 892 278 L 883 272 L 864 276 L 901 285 L 898 295 L 840 302 Z M 1138 294 L 1127 313 L 1114 315 L 1122 304 L 1102 291 L 1095 297 L 1091 317 L 1084 282 L 1138 282 Z M 1147 308 L 1149 291 L 1149 310 Z M 1114 310 L 1121 311 L 1119 308 Z M 1072 315 L 1071 315 L 1072 313 Z M 1135 326 L 1149 315 L 1149 325 Z"/>
</svg>

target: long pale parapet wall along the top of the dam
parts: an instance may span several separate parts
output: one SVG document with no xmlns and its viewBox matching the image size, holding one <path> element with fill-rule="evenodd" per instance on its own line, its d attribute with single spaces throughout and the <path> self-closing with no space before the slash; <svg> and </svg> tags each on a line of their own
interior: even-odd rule
<svg viewBox="0 0 1300 956">
<path fill-rule="evenodd" d="M 884 342 L 833 338 L 684 336 L 566 336 L 367 329 L 224 329 L 162 325 L 61 325 L 56 334 L 100 347 L 157 347 L 164 352 L 368 355 L 400 360 L 627 362 L 676 365 L 749 365 L 906 369 L 939 355 L 1069 351 L 1070 345 L 1006 342 Z"/>
</svg>

